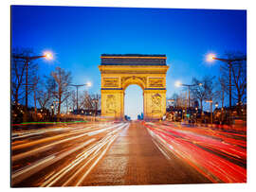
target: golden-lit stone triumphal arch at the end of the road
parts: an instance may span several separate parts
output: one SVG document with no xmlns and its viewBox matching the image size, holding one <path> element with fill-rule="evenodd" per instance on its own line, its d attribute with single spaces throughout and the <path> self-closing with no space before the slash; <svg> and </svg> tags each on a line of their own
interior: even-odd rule
<svg viewBox="0 0 256 192">
<path fill-rule="evenodd" d="M 144 119 L 166 113 L 165 55 L 101 55 L 101 115 L 123 119 L 124 91 L 137 84 L 143 91 Z"/>
</svg>

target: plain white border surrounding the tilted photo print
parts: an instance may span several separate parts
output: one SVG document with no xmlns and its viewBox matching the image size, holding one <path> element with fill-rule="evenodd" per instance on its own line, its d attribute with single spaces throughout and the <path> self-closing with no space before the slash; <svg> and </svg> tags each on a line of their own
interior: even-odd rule
<svg viewBox="0 0 256 192">
<path fill-rule="evenodd" d="M 106 186 L 106 187 L 65 187 L 65 188 L 9 188 L 9 15 L 10 5 L 47 5 L 47 6 L 83 6 L 83 7 L 130 7 L 130 8 L 182 8 L 182 9 L 247 9 L 247 183 L 245 184 L 178 184 L 178 185 L 138 185 L 138 186 Z M 255 61 L 255 18 L 256 10 L 253 0 L 15 0 L 1 1 L 1 189 L 6 190 L 47 190 L 62 191 L 93 190 L 93 191 L 255 191 L 255 125 L 253 125 L 255 106 L 256 61 Z M 253 76 L 254 75 L 254 76 Z M 254 182 L 255 181 L 255 182 Z"/>
</svg>

